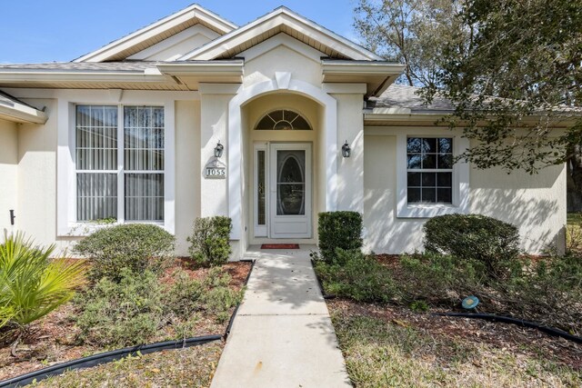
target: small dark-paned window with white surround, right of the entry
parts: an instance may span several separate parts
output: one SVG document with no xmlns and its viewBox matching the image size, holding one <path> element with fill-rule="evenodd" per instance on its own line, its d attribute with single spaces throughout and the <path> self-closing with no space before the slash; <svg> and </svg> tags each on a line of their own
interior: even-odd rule
<svg viewBox="0 0 582 388">
<path fill-rule="evenodd" d="M 468 213 L 469 166 L 453 164 L 468 140 L 451 132 L 432 132 L 411 129 L 396 135 L 397 217 Z"/>
</svg>

